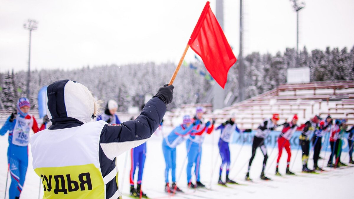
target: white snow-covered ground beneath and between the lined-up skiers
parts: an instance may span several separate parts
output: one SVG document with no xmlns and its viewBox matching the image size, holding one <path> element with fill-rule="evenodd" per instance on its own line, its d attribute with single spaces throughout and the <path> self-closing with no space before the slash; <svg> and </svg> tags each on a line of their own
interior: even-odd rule
<svg viewBox="0 0 354 199">
<path fill-rule="evenodd" d="M 164 132 L 169 133 L 171 128 L 165 128 Z M 276 156 L 278 150 L 268 148 L 268 164 L 266 175 L 272 178 L 272 181 L 261 181 L 259 175 L 262 169 L 263 155 L 261 151 L 257 151 L 256 157 L 251 166 L 250 177 L 255 183 L 244 181 L 247 165 L 251 156 L 251 146 L 230 145 L 231 165 L 230 178 L 245 186 L 230 186 L 225 188 L 217 185 L 219 166 L 221 158 L 218 154 L 217 142 L 219 139 L 219 131 L 214 131 L 211 135 L 207 135 L 203 144 L 201 158 L 201 182 L 210 187 L 212 190 L 206 189 L 187 189 L 186 177 L 186 147 L 181 144 L 177 147 L 177 168 L 176 178 L 177 185 L 180 186 L 186 194 L 177 194 L 173 198 L 352 198 L 352 187 L 354 168 L 343 168 L 323 172 L 322 174 L 302 174 L 301 171 L 301 151 L 292 150 L 291 167 L 292 171 L 300 176 L 278 177 L 274 175 Z M 165 161 L 162 155 L 161 147 L 162 135 L 156 134 L 147 142 L 147 158 L 143 174 L 143 191 L 151 198 L 170 198 L 164 193 L 164 170 Z M 4 198 L 5 182 L 7 174 L 7 134 L 0 137 L 0 198 Z M 313 152 L 311 152 L 312 154 Z M 236 162 L 235 158 L 238 156 Z M 325 160 L 319 160 L 319 165 L 325 165 L 328 161 L 329 153 L 322 152 Z M 280 172 L 285 173 L 287 154 L 284 151 L 280 160 Z M 348 162 L 348 154 L 342 154 L 343 162 Z M 129 171 L 130 171 L 130 153 L 123 153 L 118 157 L 119 168 L 119 184 L 123 194 L 129 193 Z M 234 164 L 235 163 L 235 164 Z M 233 166 L 234 164 L 234 166 Z M 309 160 L 309 167 L 312 168 L 312 159 Z M 213 174 L 213 175 L 211 175 Z M 225 174 L 224 174 L 225 175 Z M 223 177 L 224 179 L 224 177 Z M 10 180 L 8 181 L 10 185 Z M 27 170 L 26 181 L 21 194 L 21 198 L 38 198 L 38 194 L 42 195 L 40 190 L 40 178 L 35 174 L 32 168 L 32 156 L 29 153 L 29 165 Z M 8 198 L 8 194 L 6 196 Z M 128 198 L 128 197 L 123 197 Z"/>
</svg>

